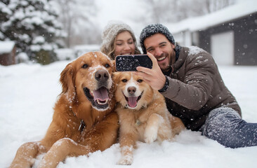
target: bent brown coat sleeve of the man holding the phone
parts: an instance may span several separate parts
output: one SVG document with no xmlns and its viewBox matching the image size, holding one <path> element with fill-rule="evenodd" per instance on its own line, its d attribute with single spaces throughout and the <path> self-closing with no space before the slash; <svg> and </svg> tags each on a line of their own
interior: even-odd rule
<svg viewBox="0 0 257 168">
<path fill-rule="evenodd" d="M 208 52 L 189 55 L 184 64 L 183 80 L 169 78 L 169 87 L 162 94 L 187 109 L 198 111 L 211 97 L 217 66 Z"/>
</svg>

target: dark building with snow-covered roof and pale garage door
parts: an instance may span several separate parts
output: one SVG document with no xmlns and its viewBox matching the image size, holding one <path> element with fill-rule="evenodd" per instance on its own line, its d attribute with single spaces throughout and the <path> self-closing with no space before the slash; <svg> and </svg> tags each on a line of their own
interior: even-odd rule
<svg viewBox="0 0 257 168">
<path fill-rule="evenodd" d="M 166 26 L 178 43 L 203 48 L 217 64 L 257 65 L 257 1 Z"/>
</svg>

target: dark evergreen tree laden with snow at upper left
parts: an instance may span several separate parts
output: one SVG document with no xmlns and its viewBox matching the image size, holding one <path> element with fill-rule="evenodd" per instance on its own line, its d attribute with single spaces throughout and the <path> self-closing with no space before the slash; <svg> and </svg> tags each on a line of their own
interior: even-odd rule
<svg viewBox="0 0 257 168">
<path fill-rule="evenodd" d="M 0 39 L 15 41 L 17 52 L 32 61 L 49 64 L 63 37 L 51 0 L 3 0 L 0 2 Z"/>
</svg>

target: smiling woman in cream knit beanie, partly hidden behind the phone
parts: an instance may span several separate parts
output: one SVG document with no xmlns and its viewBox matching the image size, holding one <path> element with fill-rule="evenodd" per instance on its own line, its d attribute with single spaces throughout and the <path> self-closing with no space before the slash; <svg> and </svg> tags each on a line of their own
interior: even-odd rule
<svg viewBox="0 0 257 168">
<path fill-rule="evenodd" d="M 140 54 L 133 30 L 124 22 L 111 21 L 103 30 L 100 50 L 112 60 L 117 55 Z"/>
</svg>

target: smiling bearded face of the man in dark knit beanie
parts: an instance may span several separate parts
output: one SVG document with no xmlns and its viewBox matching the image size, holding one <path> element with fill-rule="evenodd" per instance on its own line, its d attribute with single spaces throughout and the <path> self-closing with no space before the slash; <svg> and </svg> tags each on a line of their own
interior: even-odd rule
<svg viewBox="0 0 257 168">
<path fill-rule="evenodd" d="M 145 38 L 144 45 L 147 52 L 150 52 L 157 59 L 162 71 L 169 71 L 171 64 L 176 60 L 175 46 L 163 34 L 154 34 Z"/>
</svg>

